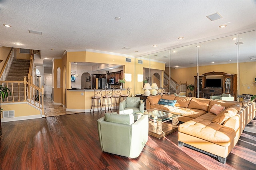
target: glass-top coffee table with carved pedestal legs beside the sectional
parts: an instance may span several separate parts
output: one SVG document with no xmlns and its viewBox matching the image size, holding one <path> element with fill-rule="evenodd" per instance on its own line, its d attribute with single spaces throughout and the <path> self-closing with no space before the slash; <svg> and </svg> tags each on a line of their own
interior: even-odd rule
<svg viewBox="0 0 256 170">
<path fill-rule="evenodd" d="M 137 115 L 142 115 L 142 113 L 139 112 L 134 113 Z M 161 109 L 148 109 L 144 111 L 143 115 L 148 115 L 148 134 L 157 138 L 162 138 L 178 130 L 178 116 L 182 115 L 182 113 L 174 114 Z M 172 121 L 172 124 L 165 123 L 167 121 Z"/>
</svg>

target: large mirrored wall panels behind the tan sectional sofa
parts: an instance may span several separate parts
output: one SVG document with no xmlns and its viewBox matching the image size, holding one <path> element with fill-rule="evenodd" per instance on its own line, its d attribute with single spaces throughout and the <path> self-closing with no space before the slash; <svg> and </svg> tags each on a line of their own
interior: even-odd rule
<svg viewBox="0 0 256 170">
<path fill-rule="evenodd" d="M 186 91 L 186 96 L 210 98 L 226 93 L 240 100 L 256 94 L 255 68 L 256 30 L 137 57 L 135 93 L 144 93 L 148 81 L 168 94 Z"/>
</svg>

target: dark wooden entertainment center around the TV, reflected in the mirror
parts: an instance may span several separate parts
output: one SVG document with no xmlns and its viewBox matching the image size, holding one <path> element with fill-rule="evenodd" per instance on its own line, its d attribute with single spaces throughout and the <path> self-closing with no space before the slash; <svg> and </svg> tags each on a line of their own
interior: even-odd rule
<svg viewBox="0 0 256 170">
<path fill-rule="evenodd" d="M 206 77 L 208 75 L 222 75 L 222 87 L 206 87 Z M 206 98 L 210 99 L 210 96 L 218 96 L 221 95 L 222 93 L 230 94 L 231 96 L 234 96 L 234 100 L 236 101 L 236 89 L 237 89 L 237 75 L 236 74 L 227 74 L 224 72 L 209 72 L 209 73 L 204 73 L 200 76 L 194 76 L 195 77 L 195 87 L 197 87 L 198 84 L 198 89 L 195 88 L 195 97 L 197 94 L 197 91 L 199 92 L 200 98 Z"/>
</svg>

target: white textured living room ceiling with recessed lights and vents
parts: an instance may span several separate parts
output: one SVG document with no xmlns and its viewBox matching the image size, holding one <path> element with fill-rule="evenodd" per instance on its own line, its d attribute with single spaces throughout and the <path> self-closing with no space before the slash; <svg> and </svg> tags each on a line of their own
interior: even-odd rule
<svg viewBox="0 0 256 170">
<path fill-rule="evenodd" d="M 255 9 L 255 0 L 1 0 L 0 45 L 40 50 L 49 61 L 70 49 L 142 56 L 256 30 Z M 223 18 L 206 17 L 216 12 Z"/>
</svg>

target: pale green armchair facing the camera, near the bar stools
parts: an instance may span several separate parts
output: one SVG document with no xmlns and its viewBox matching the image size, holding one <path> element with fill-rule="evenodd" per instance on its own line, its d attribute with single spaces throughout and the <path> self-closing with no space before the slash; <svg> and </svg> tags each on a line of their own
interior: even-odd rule
<svg viewBox="0 0 256 170">
<path fill-rule="evenodd" d="M 134 112 L 144 113 L 144 102 L 140 100 L 140 97 L 126 97 L 125 100 L 120 102 L 119 104 L 120 115 L 128 115 Z"/>
</svg>

